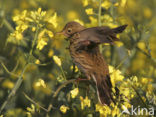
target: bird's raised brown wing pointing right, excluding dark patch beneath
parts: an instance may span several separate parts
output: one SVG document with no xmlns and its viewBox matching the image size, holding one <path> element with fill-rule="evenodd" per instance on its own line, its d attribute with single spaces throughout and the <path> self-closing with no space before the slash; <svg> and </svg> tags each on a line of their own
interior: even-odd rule
<svg viewBox="0 0 156 117">
<path fill-rule="evenodd" d="M 126 28 L 126 26 L 127 25 L 123 25 L 114 29 L 110 29 L 109 27 L 105 26 L 87 28 L 80 32 L 80 38 L 97 44 L 113 44 L 114 41 L 119 41 L 119 39 L 116 37 L 116 34 L 121 33 Z"/>
</svg>

